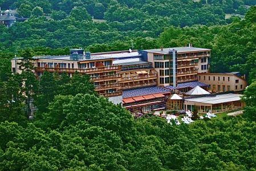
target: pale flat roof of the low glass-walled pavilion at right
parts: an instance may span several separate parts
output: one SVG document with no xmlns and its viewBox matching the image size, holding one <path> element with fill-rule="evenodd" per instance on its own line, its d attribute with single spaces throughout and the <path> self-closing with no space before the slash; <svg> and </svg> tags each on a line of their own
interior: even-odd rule
<svg viewBox="0 0 256 171">
<path fill-rule="evenodd" d="M 189 99 L 185 99 L 185 101 L 192 101 L 198 103 L 207 103 L 207 104 L 220 104 L 220 103 L 227 103 L 231 101 L 239 101 L 241 100 L 241 96 L 239 94 L 222 94 L 216 96 L 205 96 L 205 97 L 193 97 Z"/>
</svg>

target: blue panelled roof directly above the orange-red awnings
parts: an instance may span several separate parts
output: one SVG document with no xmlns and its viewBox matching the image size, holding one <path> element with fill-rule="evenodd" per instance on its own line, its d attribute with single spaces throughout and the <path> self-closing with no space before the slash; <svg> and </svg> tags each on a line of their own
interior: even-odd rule
<svg viewBox="0 0 256 171">
<path fill-rule="evenodd" d="M 123 91 L 123 98 L 152 95 L 156 93 L 168 93 L 168 92 L 170 92 L 169 89 L 162 88 L 162 87 L 144 87 L 144 88 L 128 89 Z"/>
</svg>

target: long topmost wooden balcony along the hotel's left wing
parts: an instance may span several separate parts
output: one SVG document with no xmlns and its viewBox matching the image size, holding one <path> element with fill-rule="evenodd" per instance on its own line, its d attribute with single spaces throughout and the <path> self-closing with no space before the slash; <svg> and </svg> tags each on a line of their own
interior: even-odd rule
<svg viewBox="0 0 256 171">
<path fill-rule="evenodd" d="M 112 71 L 121 71 L 121 66 L 111 66 L 111 67 L 96 67 L 96 68 L 48 68 L 48 67 L 36 67 L 36 72 L 59 72 L 59 73 L 75 73 L 80 74 L 94 74 L 100 72 L 112 72 Z"/>
</svg>

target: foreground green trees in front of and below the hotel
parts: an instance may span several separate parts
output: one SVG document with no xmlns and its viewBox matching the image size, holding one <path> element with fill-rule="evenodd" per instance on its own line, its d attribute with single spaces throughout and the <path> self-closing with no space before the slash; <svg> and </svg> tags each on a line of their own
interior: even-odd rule
<svg viewBox="0 0 256 171">
<path fill-rule="evenodd" d="M 133 119 L 98 96 L 88 75 L 38 80 L 31 52 L 22 55 L 22 73 L 0 78 L 0 170 L 256 169 L 256 82 L 242 116 L 177 126 L 150 113 Z M 38 110 L 28 120 L 31 99 Z"/>
</svg>

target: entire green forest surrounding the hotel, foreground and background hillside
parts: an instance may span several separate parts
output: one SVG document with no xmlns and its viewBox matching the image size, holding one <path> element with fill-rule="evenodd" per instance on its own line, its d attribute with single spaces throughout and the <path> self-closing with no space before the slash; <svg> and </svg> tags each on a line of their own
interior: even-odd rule
<svg viewBox="0 0 256 171">
<path fill-rule="evenodd" d="M 254 0 L 0 0 L 29 18 L 0 25 L 0 170 L 256 170 Z M 250 9 L 247 9 L 247 7 Z M 225 14 L 245 14 L 245 19 Z M 186 46 L 212 49 L 213 72 L 249 76 L 242 116 L 170 125 L 133 119 L 87 75 L 32 73 L 32 55 Z M 23 56 L 22 74 L 10 58 Z M 38 110 L 30 111 L 31 100 Z M 29 119 L 28 113 L 34 113 Z"/>
</svg>

